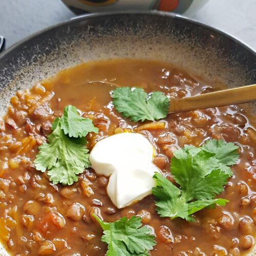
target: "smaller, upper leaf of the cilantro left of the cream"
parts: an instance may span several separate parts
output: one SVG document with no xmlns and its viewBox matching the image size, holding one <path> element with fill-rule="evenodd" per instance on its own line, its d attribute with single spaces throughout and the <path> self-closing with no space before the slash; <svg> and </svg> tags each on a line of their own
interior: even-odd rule
<svg viewBox="0 0 256 256">
<path fill-rule="evenodd" d="M 66 135 L 74 138 L 85 137 L 90 132 L 98 133 L 98 128 L 94 127 L 92 120 L 81 117 L 72 105 L 65 107 L 60 118 L 60 127 Z"/>
</svg>

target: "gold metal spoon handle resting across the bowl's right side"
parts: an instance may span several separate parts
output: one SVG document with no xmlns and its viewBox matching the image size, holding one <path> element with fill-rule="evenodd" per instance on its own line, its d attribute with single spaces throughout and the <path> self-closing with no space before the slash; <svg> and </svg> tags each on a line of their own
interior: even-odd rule
<svg viewBox="0 0 256 256">
<path fill-rule="evenodd" d="M 170 99 L 169 113 L 214 108 L 256 100 L 256 84 L 193 97 Z"/>
</svg>

